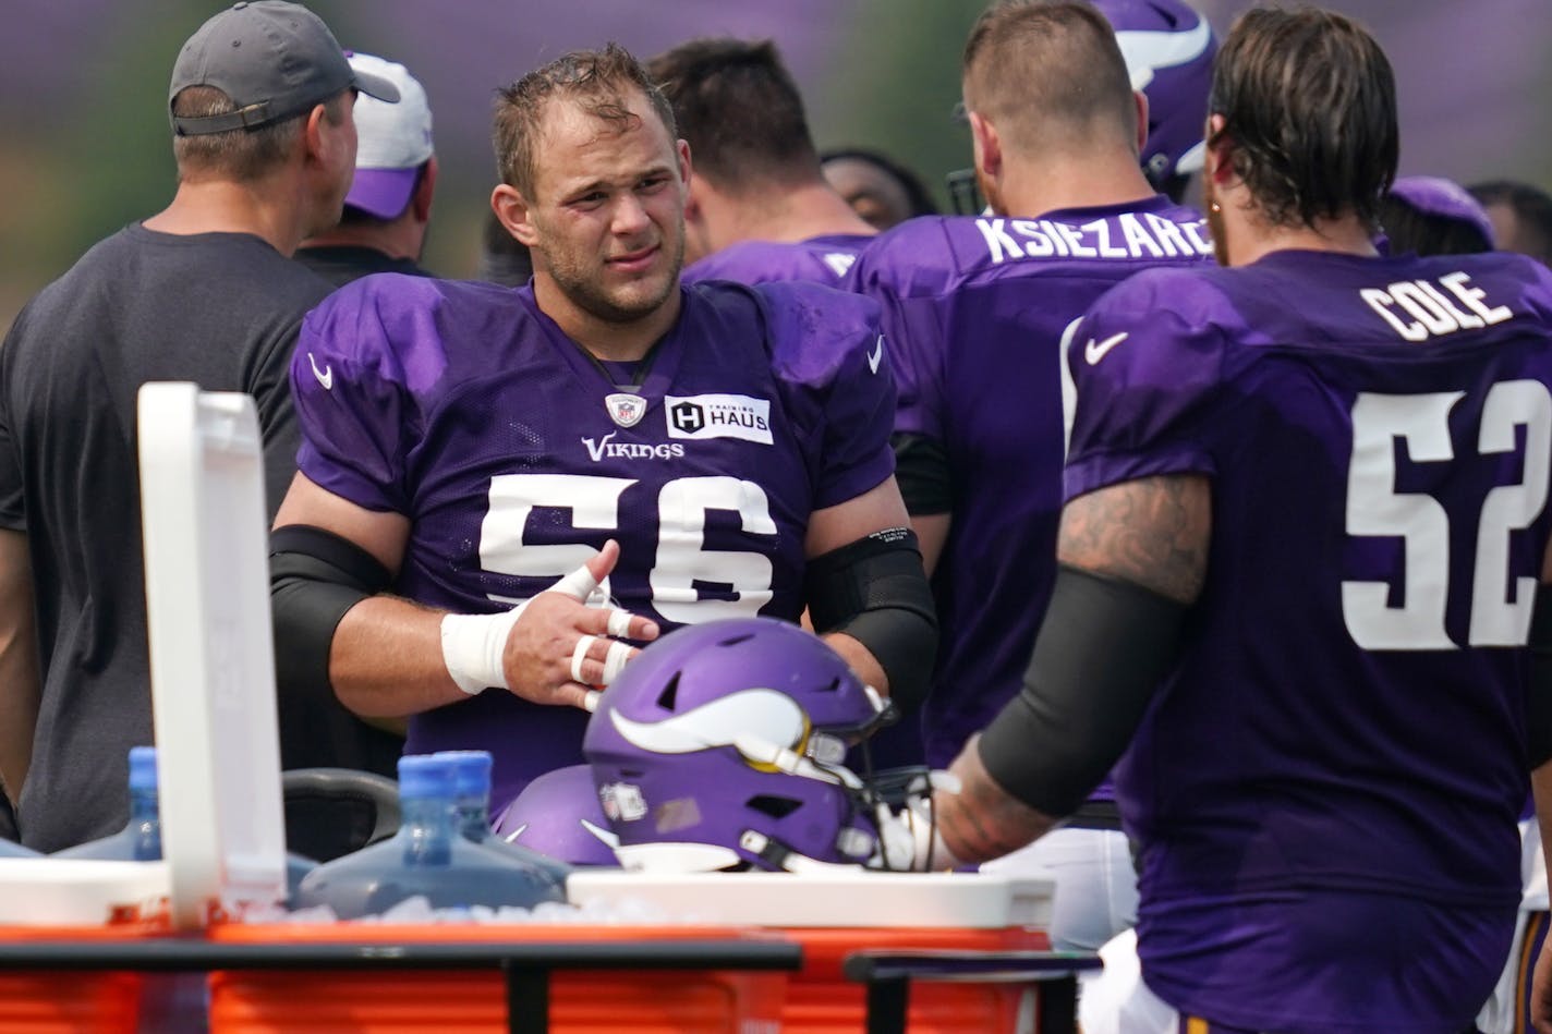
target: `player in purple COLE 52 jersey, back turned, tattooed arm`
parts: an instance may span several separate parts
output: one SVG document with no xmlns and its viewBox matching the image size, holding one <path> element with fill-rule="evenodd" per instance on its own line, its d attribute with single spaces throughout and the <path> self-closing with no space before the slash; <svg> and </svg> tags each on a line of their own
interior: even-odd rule
<svg viewBox="0 0 1552 1034">
<path fill-rule="evenodd" d="M 1552 276 L 1380 256 L 1397 152 L 1363 28 L 1242 16 L 1221 267 L 1076 328 L 1062 567 L 936 846 L 999 855 L 1114 767 L 1141 904 L 1088 1034 L 1454 1034 L 1513 935 L 1527 773 L 1552 810 Z"/>
</svg>

